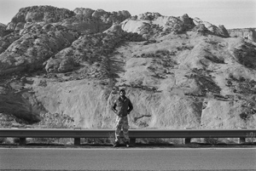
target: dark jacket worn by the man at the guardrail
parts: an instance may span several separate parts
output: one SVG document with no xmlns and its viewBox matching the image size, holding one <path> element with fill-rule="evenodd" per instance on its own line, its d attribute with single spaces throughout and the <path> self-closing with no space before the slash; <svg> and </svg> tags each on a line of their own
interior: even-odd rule
<svg viewBox="0 0 256 171">
<path fill-rule="evenodd" d="M 126 117 L 132 111 L 133 106 L 131 104 L 131 100 L 125 97 L 122 100 L 120 97 L 119 99 L 113 102 L 112 110 L 119 116 L 119 117 Z"/>
</svg>

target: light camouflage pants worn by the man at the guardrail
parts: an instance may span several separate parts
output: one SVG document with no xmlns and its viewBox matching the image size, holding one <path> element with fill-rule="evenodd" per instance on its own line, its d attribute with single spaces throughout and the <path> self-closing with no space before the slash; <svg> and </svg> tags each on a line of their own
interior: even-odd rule
<svg viewBox="0 0 256 171">
<path fill-rule="evenodd" d="M 120 133 L 121 129 L 123 128 L 123 134 L 125 141 L 129 141 L 129 123 L 128 123 L 128 117 L 117 117 L 116 118 L 116 129 L 115 129 L 115 141 L 120 140 Z"/>
</svg>

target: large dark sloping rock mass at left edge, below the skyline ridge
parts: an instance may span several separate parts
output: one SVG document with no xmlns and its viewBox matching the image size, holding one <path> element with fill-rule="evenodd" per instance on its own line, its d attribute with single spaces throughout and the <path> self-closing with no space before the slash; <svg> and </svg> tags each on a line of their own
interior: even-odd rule
<svg viewBox="0 0 256 171">
<path fill-rule="evenodd" d="M 31 24 L 20 30 L 20 35 L 0 54 L 0 74 L 16 71 L 33 71 L 43 68 L 43 63 L 55 53 L 79 37 L 79 34 L 66 27 L 51 24 Z M 10 35 L 9 35 L 10 36 Z M 6 36 L 8 37 L 8 36 Z M 3 44 L 5 42 L 3 41 Z"/>
</svg>

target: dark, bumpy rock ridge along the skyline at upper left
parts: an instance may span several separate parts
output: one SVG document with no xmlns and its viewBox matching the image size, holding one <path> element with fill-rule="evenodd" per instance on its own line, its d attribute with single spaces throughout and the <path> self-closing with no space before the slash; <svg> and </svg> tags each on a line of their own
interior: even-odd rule
<svg viewBox="0 0 256 171">
<path fill-rule="evenodd" d="M 74 11 L 51 6 L 32 6 L 20 9 L 8 24 L 8 30 L 20 31 L 26 25 L 35 22 L 58 23 L 69 29 L 84 33 L 96 33 L 107 30 L 113 23 L 120 23 L 129 18 L 128 11 L 106 12 L 102 9 L 77 8 Z"/>
</svg>

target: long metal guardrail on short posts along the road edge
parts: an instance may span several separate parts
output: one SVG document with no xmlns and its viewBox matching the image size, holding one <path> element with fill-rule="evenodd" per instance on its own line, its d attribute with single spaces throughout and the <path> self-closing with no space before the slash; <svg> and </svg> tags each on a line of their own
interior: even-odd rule
<svg viewBox="0 0 256 171">
<path fill-rule="evenodd" d="M 113 129 L 59 129 L 59 128 L 0 128 L 0 137 L 20 138 L 20 145 L 26 144 L 26 138 L 74 138 L 74 145 L 80 144 L 80 138 L 113 137 Z M 184 138 L 188 144 L 192 138 L 256 138 L 256 129 L 130 129 L 131 143 L 137 138 Z"/>
</svg>

